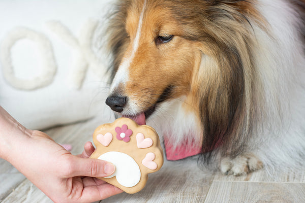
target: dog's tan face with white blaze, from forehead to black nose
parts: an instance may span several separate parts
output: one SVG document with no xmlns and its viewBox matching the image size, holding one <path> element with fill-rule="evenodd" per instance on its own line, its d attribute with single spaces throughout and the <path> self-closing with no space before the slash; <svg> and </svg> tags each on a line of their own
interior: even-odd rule
<svg viewBox="0 0 305 203">
<path fill-rule="evenodd" d="M 194 58 L 201 53 L 195 42 L 180 37 L 179 26 L 158 4 L 136 1 L 128 8 L 126 50 L 107 102 L 114 111 L 147 117 L 162 101 L 189 92 Z"/>
</svg>

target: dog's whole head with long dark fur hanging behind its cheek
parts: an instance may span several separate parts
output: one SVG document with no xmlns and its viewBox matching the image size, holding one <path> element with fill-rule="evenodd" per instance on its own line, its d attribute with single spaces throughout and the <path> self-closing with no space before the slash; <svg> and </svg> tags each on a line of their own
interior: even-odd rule
<svg viewBox="0 0 305 203">
<path fill-rule="evenodd" d="M 185 96 L 184 110 L 196 115 L 205 138 L 237 133 L 255 75 L 248 17 L 260 19 L 248 1 L 121 2 L 109 29 L 106 104 L 143 124 L 161 103 Z"/>
</svg>

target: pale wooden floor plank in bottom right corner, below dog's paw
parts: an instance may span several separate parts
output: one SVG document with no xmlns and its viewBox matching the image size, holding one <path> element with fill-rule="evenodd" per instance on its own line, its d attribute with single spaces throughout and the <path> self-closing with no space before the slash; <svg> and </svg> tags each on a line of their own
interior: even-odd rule
<svg viewBox="0 0 305 203">
<path fill-rule="evenodd" d="M 304 183 L 255 183 L 214 181 L 205 203 L 283 202 L 303 203 Z"/>
</svg>

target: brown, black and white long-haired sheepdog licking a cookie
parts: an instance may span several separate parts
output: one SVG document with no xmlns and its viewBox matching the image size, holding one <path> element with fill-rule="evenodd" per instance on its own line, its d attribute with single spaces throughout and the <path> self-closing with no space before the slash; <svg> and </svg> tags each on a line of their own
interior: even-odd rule
<svg viewBox="0 0 305 203">
<path fill-rule="evenodd" d="M 303 0 L 124 0 L 106 104 L 155 127 L 167 158 L 224 174 L 305 163 Z"/>
</svg>

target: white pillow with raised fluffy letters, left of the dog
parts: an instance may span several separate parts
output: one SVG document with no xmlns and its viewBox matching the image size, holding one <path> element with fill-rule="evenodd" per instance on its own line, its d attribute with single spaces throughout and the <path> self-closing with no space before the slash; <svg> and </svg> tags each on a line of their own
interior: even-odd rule
<svg viewBox="0 0 305 203">
<path fill-rule="evenodd" d="M 0 105 L 32 129 L 105 114 L 111 0 L 0 1 Z"/>
</svg>

